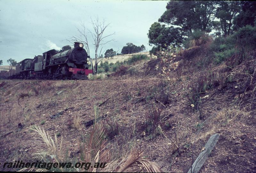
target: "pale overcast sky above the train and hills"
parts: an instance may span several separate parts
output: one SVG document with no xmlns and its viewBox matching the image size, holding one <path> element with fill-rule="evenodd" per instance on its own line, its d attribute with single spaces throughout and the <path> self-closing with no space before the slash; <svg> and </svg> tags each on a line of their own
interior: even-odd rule
<svg viewBox="0 0 256 173">
<path fill-rule="evenodd" d="M 0 0 L 0 60 L 20 62 L 51 49 L 70 45 L 71 36 L 78 36 L 80 23 L 92 31 L 91 19 L 105 19 L 109 27 L 104 35 L 102 54 L 107 49 L 121 53 L 126 43 L 148 45 L 148 30 L 166 10 L 168 1 L 113 1 L 113 0 Z M 87 31 L 88 32 L 88 31 Z M 103 36 L 104 36 L 103 35 Z M 90 56 L 94 58 L 94 45 L 88 32 Z M 99 52 L 98 52 L 99 53 Z"/>
</svg>

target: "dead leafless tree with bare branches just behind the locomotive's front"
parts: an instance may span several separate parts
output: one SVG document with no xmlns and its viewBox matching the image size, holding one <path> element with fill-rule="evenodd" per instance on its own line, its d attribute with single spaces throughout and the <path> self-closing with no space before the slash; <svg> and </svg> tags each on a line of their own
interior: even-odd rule
<svg viewBox="0 0 256 173">
<path fill-rule="evenodd" d="M 89 49 L 89 42 L 88 42 L 88 37 L 87 34 L 90 33 L 92 35 L 92 39 L 94 41 L 94 43 L 92 43 L 94 45 L 94 50 L 95 50 L 95 59 L 94 59 L 94 67 L 92 64 L 92 58 L 90 59 L 91 65 L 92 65 L 92 70 L 93 70 L 93 74 L 97 74 L 97 68 L 98 68 L 98 63 L 100 61 L 98 61 L 98 57 L 101 54 L 102 51 L 102 45 L 107 44 L 111 41 L 113 41 L 114 39 L 108 40 L 108 41 L 104 41 L 103 39 L 106 39 L 107 37 L 114 35 L 114 33 L 109 34 L 104 36 L 104 31 L 106 30 L 106 28 L 109 27 L 110 23 L 106 24 L 106 20 L 103 19 L 102 22 L 99 21 L 99 17 L 97 17 L 94 21 L 91 18 L 91 24 L 93 27 L 93 31 L 90 31 L 89 29 L 87 29 L 85 27 L 84 22 L 81 22 L 81 28 L 76 28 L 77 31 L 79 32 L 79 36 L 71 36 L 69 39 L 67 39 L 69 42 L 73 43 L 73 42 L 80 42 L 80 43 L 84 43 L 85 45 L 85 50 L 87 51 L 88 55 L 90 55 L 90 49 Z M 100 48 L 101 47 L 101 48 Z M 100 49 L 100 52 L 98 54 L 98 51 Z"/>
</svg>

